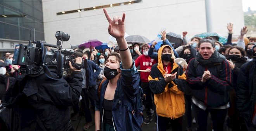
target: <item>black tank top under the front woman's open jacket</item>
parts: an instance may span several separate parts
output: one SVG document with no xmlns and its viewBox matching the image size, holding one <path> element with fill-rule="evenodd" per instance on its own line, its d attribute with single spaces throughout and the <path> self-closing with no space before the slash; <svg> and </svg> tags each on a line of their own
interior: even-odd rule
<svg viewBox="0 0 256 131">
<path fill-rule="evenodd" d="M 113 100 L 107 100 L 104 98 L 103 100 L 103 108 L 104 108 L 104 119 L 107 124 L 113 126 L 112 122 L 112 103 Z"/>
</svg>

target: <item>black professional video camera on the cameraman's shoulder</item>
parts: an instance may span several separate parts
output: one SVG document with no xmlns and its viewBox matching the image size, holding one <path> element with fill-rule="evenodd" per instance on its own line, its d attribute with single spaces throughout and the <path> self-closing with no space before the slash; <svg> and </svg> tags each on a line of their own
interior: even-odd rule
<svg viewBox="0 0 256 131">
<path fill-rule="evenodd" d="M 74 64 L 73 59 L 76 56 L 81 57 L 83 54 L 73 50 L 61 49 L 60 40 L 67 41 L 70 35 L 58 31 L 55 36 L 58 39 L 57 45 L 47 44 L 45 41 L 36 41 L 28 45 L 19 44 L 15 46 L 12 64 L 21 66 L 19 69 L 20 75 L 43 74 L 45 66 L 50 72 L 57 72 L 62 75 L 62 69 L 67 71 L 69 68 L 69 61 L 76 69 L 81 67 L 81 64 Z M 54 47 L 57 50 L 49 52 L 45 46 Z"/>
</svg>

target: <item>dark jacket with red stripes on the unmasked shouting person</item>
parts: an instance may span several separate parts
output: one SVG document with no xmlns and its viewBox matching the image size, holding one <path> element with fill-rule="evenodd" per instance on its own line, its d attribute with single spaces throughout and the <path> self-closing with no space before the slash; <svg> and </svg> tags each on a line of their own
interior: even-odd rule
<svg viewBox="0 0 256 131">
<path fill-rule="evenodd" d="M 195 59 L 199 62 L 196 68 Z M 220 72 L 217 69 L 218 64 L 222 67 Z M 211 72 L 211 78 L 203 83 L 202 75 L 207 70 Z M 223 55 L 215 51 L 208 60 L 204 60 L 201 54 L 197 54 L 190 60 L 186 75 L 191 94 L 199 101 L 209 107 L 219 107 L 228 103 L 228 91 L 232 90 L 232 71 Z"/>
</svg>

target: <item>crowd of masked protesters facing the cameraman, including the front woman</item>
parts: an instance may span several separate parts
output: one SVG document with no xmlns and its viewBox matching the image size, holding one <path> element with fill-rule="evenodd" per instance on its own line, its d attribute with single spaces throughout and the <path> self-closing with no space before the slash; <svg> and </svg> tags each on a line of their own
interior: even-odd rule
<svg viewBox="0 0 256 131">
<path fill-rule="evenodd" d="M 136 118 L 125 112 L 126 105 L 120 104 L 125 100 L 120 96 L 134 102 L 139 86 L 145 94 L 143 123 L 149 124 L 155 112 L 159 131 L 168 129 L 169 124 L 173 131 L 182 131 L 184 116 L 187 131 L 192 131 L 193 117 L 197 130 L 206 131 L 209 113 L 214 131 L 225 127 L 232 131 L 256 130 L 256 37 L 244 37 L 247 27 L 241 29 L 236 44 L 231 41 L 230 23 L 227 43 L 211 36 L 193 37 L 187 42 L 188 32 L 183 32 L 179 47 L 173 46 L 162 31 L 163 44 L 156 50 L 156 41 L 151 46 L 133 43 L 129 47 L 124 39 L 125 14 L 111 20 L 106 9 L 104 13 L 109 34 L 118 40 L 118 47 L 90 47 L 86 52 L 74 49 L 83 53 L 83 82 L 81 101 L 73 106 L 72 120 L 82 112 L 86 122 L 83 130 L 93 125 L 90 109 L 95 130 L 136 130 L 132 128 Z M 19 66 L 12 65 L 12 57 L 6 53 L 0 59 L 0 99 L 18 76 Z M 185 64 L 175 62 L 176 58 L 185 59 Z"/>
</svg>

